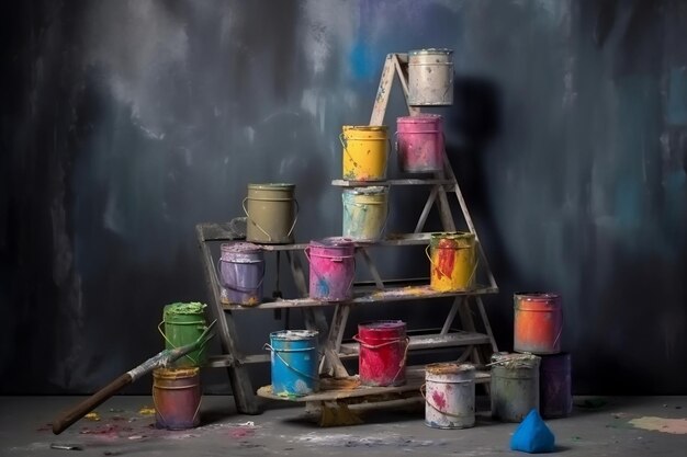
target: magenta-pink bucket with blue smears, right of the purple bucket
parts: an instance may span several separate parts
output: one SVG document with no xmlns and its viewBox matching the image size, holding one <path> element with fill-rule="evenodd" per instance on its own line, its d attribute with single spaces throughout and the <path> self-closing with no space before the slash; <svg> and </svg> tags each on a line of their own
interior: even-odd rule
<svg viewBox="0 0 687 457">
<path fill-rule="evenodd" d="M 356 244 L 348 238 L 311 241 L 305 250 L 311 264 L 309 297 L 323 301 L 345 301 L 353 296 Z"/>
</svg>

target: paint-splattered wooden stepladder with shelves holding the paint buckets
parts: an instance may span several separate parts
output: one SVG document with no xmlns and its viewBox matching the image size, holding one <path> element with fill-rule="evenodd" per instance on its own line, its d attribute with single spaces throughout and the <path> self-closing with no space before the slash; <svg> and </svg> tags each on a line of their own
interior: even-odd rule
<svg viewBox="0 0 687 457">
<path fill-rule="evenodd" d="M 412 106 L 408 101 L 408 73 L 407 55 L 390 54 L 384 62 L 380 79 L 378 94 L 374 101 L 370 125 L 383 125 L 388 99 L 396 77 L 401 83 L 408 113 L 410 115 L 420 114 L 420 108 Z M 413 301 L 418 299 L 452 298 L 452 305 L 448 311 L 443 324 L 440 329 L 431 332 L 409 333 L 408 351 L 415 350 L 437 350 L 447 347 L 462 349 L 457 362 L 472 362 L 477 367 L 484 367 L 488 362 L 492 352 L 497 352 L 497 345 L 488 322 L 482 296 L 496 294 L 498 286 L 488 266 L 486 256 L 480 243 L 477 232 L 470 217 L 465 201 L 455 179 L 446 151 L 443 151 L 443 170 L 435 172 L 428 179 L 401 179 L 386 180 L 382 183 L 375 182 L 373 185 L 388 186 L 424 186 L 429 188 L 429 194 L 425 206 L 421 209 L 415 230 L 412 233 L 394 233 L 374 243 L 358 243 L 356 255 L 362 264 L 367 265 L 372 276 L 370 284 L 356 284 L 353 286 L 353 298 L 345 302 L 323 302 L 308 298 L 306 275 L 303 271 L 301 256 L 306 243 L 294 244 L 261 244 L 268 252 L 284 252 L 289 262 L 292 279 L 299 292 L 299 297 L 281 298 L 266 297 L 263 301 L 254 307 L 241 307 L 227 302 L 222 295 L 222 287 L 217 281 L 215 271 L 216 260 L 213 259 L 210 243 L 239 239 L 229 224 L 200 224 L 196 226 L 196 238 L 201 249 L 204 265 L 205 279 L 210 292 L 211 309 L 218 323 L 218 335 L 221 340 L 222 354 L 211 357 L 210 366 L 226 367 L 232 384 L 232 391 L 238 412 L 256 414 L 260 412 L 260 407 L 256 398 L 252 382 L 249 378 L 246 365 L 251 363 L 267 363 L 270 361 L 269 354 L 243 354 L 239 350 L 239 331 L 234 321 L 234 312 L 245 312 L 248 310 L 278 310 L 301 308 L 304 312 L 304 323 L 308 329 L 317 330 L 319 333 L 319 344 L 322 363 L 319 366 L 323 378 L 322 390 L 312 396 L 300 398 L 281 398 L 271 392 L 271 386 L 258 389 L 260 397 L 280 400 L 302 401 L 308 407 L 325 409 L 326 404 L 351 404 L 351 402 L 375 403 L 384 401 L 405 401 L 410 393 L 419 395 L 419 387 L 424 382 L 424 367 L 408 367 L 407 384 L 401 387 L 364 388 L 362 386 L 351 388 L 354 385 L 356 376 L 351 376 L 346 369 L 342 361 L 356 358 L 360 354 L 360 346 L 356 342 L 348 341 L 345 335 L 351 309 L 354 306 L 368 306 L 370 304 L 388 304 Z M 370 182 L 356 182 L 347 180 L 333 180 L 331 184 L 338 187 L 358 187 L 372 185 Z M 474 288 L 465 292 L 440 293 L 429 288 L 428 284 L 404 283 L 404 279 L 384 279 L 376 267 L 372 247 L 403 247 L 403 245 L 427 245 L 430 241 L 431 232 L 426 232 L 425 225 L 432 209 L 437 207 L 443 231 L 457 231 L 453 213 L 451 210 L 449 194 L 454 194 L 458 206 L 461 209 L 464 220 L 464 231 L 470 231 L 475 236 L 478 266 L 484 284 L 477 284 Z M 462 227 L 461 227 L 462 229 Z M 279 272 L 278 272 L 279 275 Z M 334 306 L 334 313 L 328 320 L 324 313 L 325 307 Z M 454 322 L 460 320 L 459 329 Z M 266 335 L 267 338 L 268 335 Z M 489 379 L 488 370 L 478 370 L 476 382 L 486 382 Z M 346 386 L 342 388 L 341 386 Z M 394 397 L 395 396 L 395 397 Z M 399 397 L 401 396 L 401 397 Z"/>
</svg>

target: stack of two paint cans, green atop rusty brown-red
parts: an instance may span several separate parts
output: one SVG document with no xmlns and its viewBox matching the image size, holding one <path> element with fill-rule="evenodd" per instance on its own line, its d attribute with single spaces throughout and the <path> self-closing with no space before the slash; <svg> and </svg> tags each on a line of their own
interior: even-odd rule
<svg viewBox="0 0 687 457">
<path fill-rule="evenodd" d="M 167 305 L 158 330 L 165 349 L 194 343 L 207 328 L 205 305 L 177 302 Z M 166 368 L 153 372 L 153 401 L 158 429 L 184 430 L 200 424 L 200 368 L 206 362 L 205 346 L 174 361 Z"/>
</svg>

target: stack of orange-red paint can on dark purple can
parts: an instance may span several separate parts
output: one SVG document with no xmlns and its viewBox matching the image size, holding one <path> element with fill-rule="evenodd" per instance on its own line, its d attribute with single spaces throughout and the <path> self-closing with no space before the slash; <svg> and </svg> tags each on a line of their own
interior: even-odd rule
<svg viewBox="0 0 687 457">
<path fill-rule="evenodd" d="M 564 418 L 573 408 L 571 355 L 561 351 L 561 296 L 551 293 L 514 295 L 514 350 L 539 356 L 540 413 Z"/>
</svg>

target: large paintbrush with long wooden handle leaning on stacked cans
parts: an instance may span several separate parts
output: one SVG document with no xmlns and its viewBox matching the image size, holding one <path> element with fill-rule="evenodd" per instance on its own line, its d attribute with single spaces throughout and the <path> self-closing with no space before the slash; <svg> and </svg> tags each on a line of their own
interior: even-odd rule
<svg viewBox="0 0 687 457">
<path fill-rule="evenodd" d="M 210 330 L 214 327 L 216 321 L 213 321 L 205 331 L 191 344 L 187 344 L 184 346 L 169 349 L 159 352 L 154 357 L 148 358 L 143 364 L 137 367 L 124 373 L 119 378 L 114 379 L 112 382 L 93 393 L 91 397 L 87 398 L 71 410 L 61 414 L 57 420 L 53 422 L 53 433 L 59 435 L 69 426 L 71 426 L 79 419 L 83 418 L 90 411 L 98 408 L 110 397 L 119 392 L 125 386 L 134 382 L 139 379 L 142 376 L 150 373 L 155 368 L 166 367 L 178 358 L 183 357 L 190 352 L 193 352 L 200 346 L 203 346 L 210 341 L 211 338 L 214 336 L 214 333 L 211 333 Z"/>
</svg>

